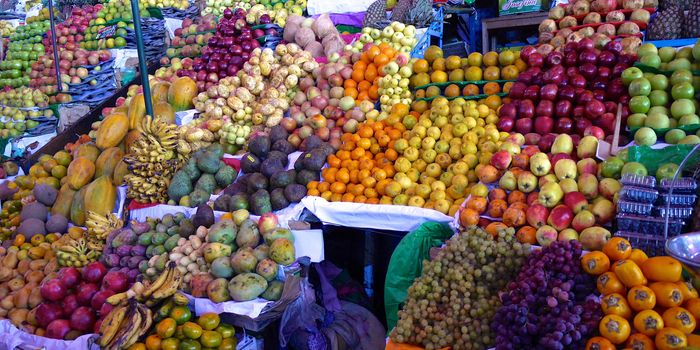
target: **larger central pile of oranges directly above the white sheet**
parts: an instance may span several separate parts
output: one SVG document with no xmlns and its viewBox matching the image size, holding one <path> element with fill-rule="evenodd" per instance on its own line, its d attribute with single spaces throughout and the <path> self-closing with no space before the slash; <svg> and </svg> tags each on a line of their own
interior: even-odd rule
<svg viewBox="0 0 700 350">
<path fill-rule="evenodd" d="M 323 181 L 308 183 L 308 194 L 331 202 L 393 204 L 401 192 L 393 180 L 398 158 L 393 144 L 406 130 L 399 121 L 408 112 L 408 106 L 396 104 L 386 120 L 368 119 L 356 133 L 343 134 L 340 149 L 321 172 Z"/>
</svg>

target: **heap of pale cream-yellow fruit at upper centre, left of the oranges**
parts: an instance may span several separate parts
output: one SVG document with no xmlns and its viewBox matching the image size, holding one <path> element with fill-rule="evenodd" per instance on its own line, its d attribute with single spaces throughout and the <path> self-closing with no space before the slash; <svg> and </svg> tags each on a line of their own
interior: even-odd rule
<svg viewBox="0 0 700 350">
<path fill-rule="evenodd" d="M 311 54 L 296 44 L 278 45 L 274 51 L 258 48 L 243 70 L 200 92 L 194 105 L 206 123 L 223 119 L 273 127 L 282 121 L 299 80 L 317 67 Z"/>
</svg>

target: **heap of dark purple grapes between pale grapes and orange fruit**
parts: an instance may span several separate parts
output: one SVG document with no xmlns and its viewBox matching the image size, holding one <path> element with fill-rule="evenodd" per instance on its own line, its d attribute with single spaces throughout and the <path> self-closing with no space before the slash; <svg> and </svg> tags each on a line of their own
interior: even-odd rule
<svg viewBox="0 0 700 350">
<path fill-rule="evenodd" d="M 557 241 L 528 257 L 491 322 L 496 350 L 585 347 L 602 312 L 581 252 L 578 241 Z"/>
</svg>

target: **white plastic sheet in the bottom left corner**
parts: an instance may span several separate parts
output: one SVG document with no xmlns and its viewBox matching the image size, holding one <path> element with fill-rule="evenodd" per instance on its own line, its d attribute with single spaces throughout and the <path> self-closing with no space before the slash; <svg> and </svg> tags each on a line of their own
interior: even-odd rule
<svg viewBox="0 0 700 350">
<path fill-rule="evenodd" d="M 15 327 L 10 320 L 0 320 L 0 350 L 51 349 L 76 350 L 99 349 L 95 344 L 97 334 L 86 334 L 75 340 L 58 340 L 25 333 Z"/>
</svg>

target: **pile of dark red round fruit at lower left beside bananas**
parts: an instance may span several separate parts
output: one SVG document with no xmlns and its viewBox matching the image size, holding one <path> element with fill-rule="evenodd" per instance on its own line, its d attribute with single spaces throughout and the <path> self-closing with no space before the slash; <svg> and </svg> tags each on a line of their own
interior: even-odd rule
<svg viewBox="0 0 700 350">
<path fill-rule="evenodd" d="M 43 302 L 31 311 L 27 322 L 36 334 L 53 339 L 72 340 L 95 333 L 112 309 L 105 301 L 128 288 L 126 275 L 107 272 L 99 262 L 82 271 L 64 268 L 39 288 Z"/>
</svg>

